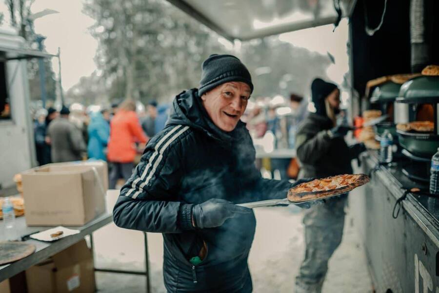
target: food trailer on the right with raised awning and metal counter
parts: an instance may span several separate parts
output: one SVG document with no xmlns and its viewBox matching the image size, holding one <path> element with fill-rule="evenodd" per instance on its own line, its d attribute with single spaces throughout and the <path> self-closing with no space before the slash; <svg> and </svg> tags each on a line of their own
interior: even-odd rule
<svg viewBox="0 0 439 293">
<path fill-rule="evenodd" d="M 363 153 L 355 172 L 370 174 L 371 183 L 349 200 L 374 290 L 439 293 L 439 197 L 428 193 L 431 156 L 439 146 L 439 77 L 420 75 L 426 65 L 439 64 L 438 1 L 168 1 L 232 42 L 349 18 L 348 117 L 385 104 L 391 118 L 376 130 L 392 129 L 399 143 L 390 164 L 379 162 L 377 150 Z M 366 94 L 369 81 L 395 74 L 414 75 L 402 84 L 367 87 Z M 423 117 L 434 131 L 396 130 L 418 120 L 425 104 L 431 117 Z"/>
</svg>

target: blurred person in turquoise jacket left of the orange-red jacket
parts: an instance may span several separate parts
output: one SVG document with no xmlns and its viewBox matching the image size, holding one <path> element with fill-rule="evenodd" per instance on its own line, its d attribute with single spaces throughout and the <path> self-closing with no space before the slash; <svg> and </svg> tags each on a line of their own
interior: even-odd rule
<svg viewBox="0 0 439 293">
<path fill-rule="evenodd" d="M 87 153 L 89 159 L 106 161 L 104 152 L 110 137 L 110 125 L 104 119 L 101 112 L 90 114 L 90 124 L 88 126 L 88 146 Z"/>
</svg>

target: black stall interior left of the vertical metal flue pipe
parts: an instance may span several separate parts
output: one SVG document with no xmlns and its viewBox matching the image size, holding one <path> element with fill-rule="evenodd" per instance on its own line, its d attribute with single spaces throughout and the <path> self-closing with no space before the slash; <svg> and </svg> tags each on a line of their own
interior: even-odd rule
<svg viewBox="0 0 439 293">
<path fill-rule="evenodd" d="M 379 25 L 384 0 L 358 0 L 350 18 L 352 84 L 360 97 L 374 78 L 410 72 L 410 0 L 388 1 L 381 28 L 373 36 L 369 27 Z"/>
</svg>

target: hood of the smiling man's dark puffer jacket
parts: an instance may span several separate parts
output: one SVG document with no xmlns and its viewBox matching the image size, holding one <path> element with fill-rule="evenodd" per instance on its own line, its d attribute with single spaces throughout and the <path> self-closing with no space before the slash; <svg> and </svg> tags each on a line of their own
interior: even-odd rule
<svg viewBox="0 0 439 293">
<path fill-rule="evenodd" d="M 201 104 L 197 88 L 183 91 L 175 97 L 166 125 L 186 125 L 203 131 L 209 137 L 227 145 L 242 137 L 241 131 L 245 129 L 245 123 L 242 121 L 239 121 L 231 132 L 225 132 L 218 128 Z"/>
</svg>

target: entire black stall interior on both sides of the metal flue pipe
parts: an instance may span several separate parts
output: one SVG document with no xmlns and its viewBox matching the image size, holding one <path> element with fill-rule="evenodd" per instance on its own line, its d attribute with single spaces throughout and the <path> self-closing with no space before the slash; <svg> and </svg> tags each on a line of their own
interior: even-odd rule
<svg viewBox="0 0 439 293">
<path fill-rule="evenodd" d="M 419 3 L 421 7 L 416 6 Z M 359 97 L 364 99 L 369 80 L 420 72 L 426 65 L 439 64 L 439 20 L 434 17 L 438 10 L 439 1 L 435 0 L 357 1 L 349 20 L 349 34 L 351 82 Z M 366 27 L 377 28 L 381 19 L 381 27 L 372 36 L 368 35 Z M 421 41 L 419 36 L 411 40 L 416 33 L 420 34 Z M 354 105 L 367 106 L 368 103 L 354 101 Z M 353 114 L 360 114 L 365 106 L 354 107 Z"/>
</svg>

